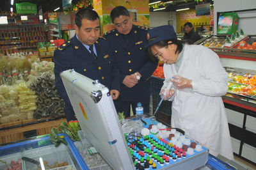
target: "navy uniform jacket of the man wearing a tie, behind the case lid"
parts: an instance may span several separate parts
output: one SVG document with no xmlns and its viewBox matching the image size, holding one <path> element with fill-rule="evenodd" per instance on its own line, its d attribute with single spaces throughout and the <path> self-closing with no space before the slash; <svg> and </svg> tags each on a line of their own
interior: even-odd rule
<svg viewBox="0 0 256 170">
<path fill-rule="evenodd" d="M 92 54 L 84 45 L 79 42 L 76 35 L 54 51 L 55 86 L 59 95 L 65 101 L 66 115 L 74 114 L 74 111 L 63 82 L 61 81 L 60 72 L 74 69 L 76 72 L 90 79 L 99 80 L 101 84 L 109 88 L 109 91 L 116 89 L 120 92 L 119 70 L 115 62 L 113 62 L 113 54 L 110 50 L 109 43 L 103 38 L 99 38 L 95 42 L 95 47 L 98 62 L 92 57 Z"/>
</svg>

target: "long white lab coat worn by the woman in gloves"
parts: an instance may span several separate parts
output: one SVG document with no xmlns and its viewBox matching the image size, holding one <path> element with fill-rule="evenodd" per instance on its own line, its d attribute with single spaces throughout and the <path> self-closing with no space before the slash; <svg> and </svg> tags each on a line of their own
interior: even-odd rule
<svg viewBox="0 0 256 170">
<path fill-rule="evenodd" d="M 221 99 L 227 93 L 228 74 L 218 55 L 202 45 L 184 45 L 179 72 L 174 65 L 165 63 L 163 70 L 165 79 L 180 75 L 193 82 L 194 93 L 177 90 L 172 103 L 172 127 L 184 130 L 186 135 L 207 146 L 212 155 L 220 153 L 234 160 Z"/>
</svg>

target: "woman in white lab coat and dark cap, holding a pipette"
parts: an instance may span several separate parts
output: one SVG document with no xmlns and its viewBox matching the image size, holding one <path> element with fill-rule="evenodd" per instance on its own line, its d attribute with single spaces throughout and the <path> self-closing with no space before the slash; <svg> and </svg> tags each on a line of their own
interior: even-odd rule
<svg viewBox="0 0 256 170">
<path fill-rule="evenodd" d="M 234 160 L 227 115 L 221 96 L 228 74 L 218 55 L 202 45 L 177 40 L 172 26 L 148 31 L 148 54 L 164 62 L 164 100 L 172 102 L 172 127 L 204 144 L 210 153 Z M 171 82 L 170 82 L 171 81 Z M 168 82 L 171 89 L 165 89 Z"/>
</svg>

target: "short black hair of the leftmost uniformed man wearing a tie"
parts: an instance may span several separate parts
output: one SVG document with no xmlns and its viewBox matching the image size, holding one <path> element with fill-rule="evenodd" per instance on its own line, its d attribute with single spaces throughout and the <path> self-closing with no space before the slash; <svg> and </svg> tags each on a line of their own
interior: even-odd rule
<svg viewBox="0 0 256 170">
<path fill-rule="evenodd" d="M 75 19 L 76 25 L 79 29 L 82 26 L 82 20 L 83 19 L 94 21 L 94 20 L 99 19 L 99 15 L 98 15 L 97 12 L 95 12 L 91 9 L 88 9 L 88 8 L 84 8 L 83 10 L 79 10 L 79 12 L 76 13 L 76 19 Z"/>
</svg>

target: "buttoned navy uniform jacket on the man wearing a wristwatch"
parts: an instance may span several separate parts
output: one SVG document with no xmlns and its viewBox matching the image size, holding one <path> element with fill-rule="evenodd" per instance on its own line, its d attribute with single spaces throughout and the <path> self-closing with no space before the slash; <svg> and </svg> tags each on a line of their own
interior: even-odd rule
<svg viewBox="0 0 256 170">
<path fill-rule="evenodd" d="M 120 71 L 121 98 L 122 101 L 138 102 L 150 97 L 152 92 L 150 76 L 157 68 L 158 61 L 152 61 L 144 48 L 147 45 L 147 28 L 132 26 L 129 44 L 116 29 L 104 34 L 104 38 L 110 43 L 116 64 Z M 142 77 L 138 84 L 127 88 L 122 82 L 126 75 L 139 72 Z"/>
</svg>

